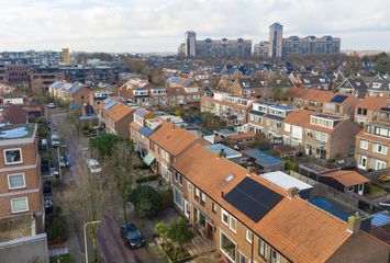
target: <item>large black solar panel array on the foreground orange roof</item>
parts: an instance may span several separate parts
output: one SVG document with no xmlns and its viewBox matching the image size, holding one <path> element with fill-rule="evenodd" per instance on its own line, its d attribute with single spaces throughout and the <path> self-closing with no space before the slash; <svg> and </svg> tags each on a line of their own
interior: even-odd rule
<svg viewBox="0 0 390 263">
<path fill-rule="evenodd" d="M 282 196 L 253 179 L 245 178 L 223 198 L 257 222 L 282 199 Z"/>
</svg>

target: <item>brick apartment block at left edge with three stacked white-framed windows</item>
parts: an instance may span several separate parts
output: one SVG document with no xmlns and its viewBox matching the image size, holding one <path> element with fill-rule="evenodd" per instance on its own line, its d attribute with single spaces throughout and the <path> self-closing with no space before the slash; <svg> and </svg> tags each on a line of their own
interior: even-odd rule
<svg viewBox="0 0 390 263">
<path fill-rule="evenodd" d="M 43 230 L 43 196 L 36 124 L 0 128 L 0 218 L 33 214 Z"/>
</svg>

